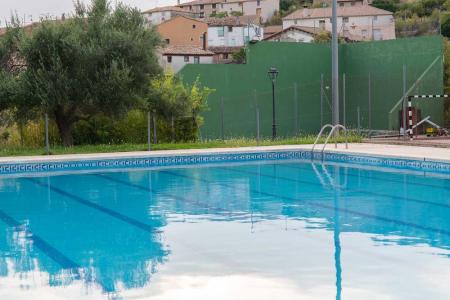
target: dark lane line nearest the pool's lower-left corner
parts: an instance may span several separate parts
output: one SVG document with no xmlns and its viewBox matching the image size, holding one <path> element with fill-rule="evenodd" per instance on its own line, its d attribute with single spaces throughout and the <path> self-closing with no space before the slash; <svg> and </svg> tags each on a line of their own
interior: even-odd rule
<svg viewBox="0 0 450 300">
<path fill-rule="evenodd" d="M 21 224 L 19 221 L 15 220 L 10 215 L 6 214 L 4 211 L 0 209 L 0 220 L 2 220 L 6 225 L 10 227 L 20 227 Z M 25 234 L 26 238 L 29 239 L 33 246 L 36 246 L 39 250 L 41 250 L 45 255 L 47 255 L 50 259 L 60 265 L 63 269 L 73 270 L 74 275 L 79 278 L 80 274 L 78 272 L 81 269 L 81 266 L 65 256 L 62 252 L 51 246 L 48 242 L 46 242 L 39 235 L 27 230 Z"/>
</svg>

